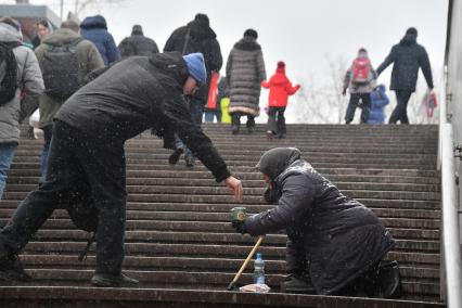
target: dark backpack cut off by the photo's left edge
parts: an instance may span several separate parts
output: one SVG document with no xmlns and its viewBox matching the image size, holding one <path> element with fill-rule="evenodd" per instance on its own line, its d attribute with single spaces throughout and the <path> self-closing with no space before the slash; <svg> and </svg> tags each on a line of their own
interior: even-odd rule
<svg viewBox="0 0 462 308">
<path fill-rule="evenodd" d="M 17 62 L 13 49 L 20 42 L 0 42 L 0 105 L 13 100 L 17 89 Z"/>
</svg>

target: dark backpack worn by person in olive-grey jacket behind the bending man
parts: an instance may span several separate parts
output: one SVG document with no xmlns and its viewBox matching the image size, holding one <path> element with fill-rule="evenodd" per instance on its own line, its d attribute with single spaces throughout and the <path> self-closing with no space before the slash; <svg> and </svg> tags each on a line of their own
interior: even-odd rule
<svg viewBox="0 0 462 308">
<path fill-rule="evenodd" d="M 80 88 L 78 78 L 77 39 L 64 46 L 50 46 L 41 63 L 44 92 L 50 97 L 66 100 Z"/>
</svg>

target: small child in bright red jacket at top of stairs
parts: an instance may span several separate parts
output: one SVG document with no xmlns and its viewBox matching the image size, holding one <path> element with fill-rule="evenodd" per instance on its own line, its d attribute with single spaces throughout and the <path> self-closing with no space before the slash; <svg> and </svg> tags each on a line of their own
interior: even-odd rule
<svg viewBox="0 0 462 308">
<path fill-rule="evenodd" d="M 269 81 L 261 81 L 261 87 L 270 89 L 268 99 L 268 130 L 267 137 L 285 138 L 285 118 L 284 112 L 287 106 L 288 95 L 295 94 L 300 85 L 292 87 L 291 80 L 285 76 L 285 63 L 278 62 L 275 74 L 271 76 Z"/>
</svg>

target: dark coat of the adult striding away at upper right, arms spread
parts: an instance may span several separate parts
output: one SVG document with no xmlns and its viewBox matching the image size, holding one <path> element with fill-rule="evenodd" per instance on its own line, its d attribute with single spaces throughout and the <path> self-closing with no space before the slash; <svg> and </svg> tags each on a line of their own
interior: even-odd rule
<svg viewBox="0 0 462 308">
<path fill-rule="evenodd" d="M 392 48 L 385 61 L 377 67 L 380 75 L 388 65 L 394 63 L 392 70 L 390 90 L 415 91 L 419 67 L 425 77 L 428 88 L 433 89 L 432 67 L 428 54 L 416 42 L 415 35 L 406 35 L 398 44 Z"/>
</svg>

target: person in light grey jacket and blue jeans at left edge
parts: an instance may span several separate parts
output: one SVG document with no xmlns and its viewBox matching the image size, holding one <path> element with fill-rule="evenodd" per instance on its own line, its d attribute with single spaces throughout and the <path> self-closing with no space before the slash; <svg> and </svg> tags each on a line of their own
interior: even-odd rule
<svg viewBox="0 0 462 308">
<path fill-rule="evenodd" d="M 43 80 L 34 51 L 23 46 L 20 24 L 0 18 L 0 200 L 20 142 L 21 93 L 26 102 L 37 100 Z"/>
</svg>

